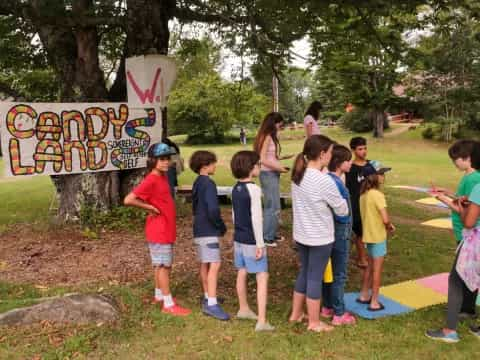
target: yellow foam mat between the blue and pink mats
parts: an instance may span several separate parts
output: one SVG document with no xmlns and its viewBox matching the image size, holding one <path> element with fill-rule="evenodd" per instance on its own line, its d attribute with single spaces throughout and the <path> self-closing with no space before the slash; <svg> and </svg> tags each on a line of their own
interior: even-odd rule
<svg viewBox="0 0 480 360">
<path fill-rule="evenodd" d="M 421 309 L 447 302 L 445 295 L 419 285 L 414 280 L 384 286 L 380 288 L 380 294 L 414 309 Z"/>
</svg>

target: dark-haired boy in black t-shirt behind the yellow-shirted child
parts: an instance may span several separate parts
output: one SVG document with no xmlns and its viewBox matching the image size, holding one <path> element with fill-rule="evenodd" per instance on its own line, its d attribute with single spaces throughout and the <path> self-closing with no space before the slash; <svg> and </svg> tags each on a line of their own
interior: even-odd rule
<svg viewBox="0 0 480 360">
<path fill-rule="evenodd" d="M 355 234 L 355 245 L 357 248 L 357 266 L 361 268 L 367 267 L 365 255 L 365 245 L 362 241 L 362 217 L 360 215 L 360 184 L 365 176 L 363 171 L 371 168 L 367 160 L 367 140 L 361 136 L 354 137 L 350 140 L 350 149 L 352 149 L 355 159 L 353 160 L 350 172 L 346 173 L 346 185 L 350 192 L 350 201 L 352 203 L 352 230 Z"/>
</svg>

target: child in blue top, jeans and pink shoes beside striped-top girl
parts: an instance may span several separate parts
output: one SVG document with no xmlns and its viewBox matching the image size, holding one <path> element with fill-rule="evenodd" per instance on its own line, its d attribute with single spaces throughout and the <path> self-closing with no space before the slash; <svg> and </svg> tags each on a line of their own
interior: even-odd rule
<svg viewBox="0 0 480 360">
<path fill-rule="evenodd" d="M 340 195 L 350 205 L 350 195 L 342 177 L 350 171 L 352 166 L 352 153 L 343 145 L 334 145 L 332 159 L 328 165 L 329 175 L 335 181 Z M 347 280 L 347 267 L 350 235 L 352 231 L 352 213 L 349 206 L 349 213 L 345 216 L 334 215 L 335 220 L 335 242 L 332 248 L 333 283 L 323 284 L 323 307 L 321 315 L 332 319 L 332 325 L 353 325 L 356 320 L 349 312 L 345 311 L 343 293 L 345 281 Z"/>
</svg>

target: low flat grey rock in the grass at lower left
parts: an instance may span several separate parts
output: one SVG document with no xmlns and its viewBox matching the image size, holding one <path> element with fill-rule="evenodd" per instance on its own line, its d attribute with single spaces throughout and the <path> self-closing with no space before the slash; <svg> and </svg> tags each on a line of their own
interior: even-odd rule
<svg viewBox="0 0 480 360">
<path fill-rule="evenodd" d="M 68 324 L 108 323 L 119 318 L 115 301 L 101 294 L 75 294 L 0 314 L 0 326 L 41 321 Z"/>
</svg>

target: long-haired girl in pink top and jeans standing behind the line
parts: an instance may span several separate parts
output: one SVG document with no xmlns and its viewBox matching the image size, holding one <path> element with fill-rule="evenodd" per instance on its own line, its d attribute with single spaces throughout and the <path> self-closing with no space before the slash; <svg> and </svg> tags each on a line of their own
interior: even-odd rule
<svg viewBox="0 0 480 360">
<path fill-rule="evenodd" d="M 293 156 L 280 157 L 281 146 L 278 132 L 283 126 L 283 117 L 278 112 L 271 112 L 258 130 L 253 149 L 260 156 L 260 184 L 263 192 L 263 236 L 267 246 L 277 246 L 278 225 L 280 217 L 280 174 L 287 173 L 280 160 Z"/>
</svg>

